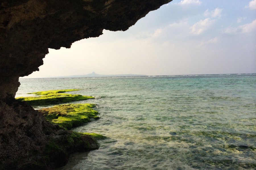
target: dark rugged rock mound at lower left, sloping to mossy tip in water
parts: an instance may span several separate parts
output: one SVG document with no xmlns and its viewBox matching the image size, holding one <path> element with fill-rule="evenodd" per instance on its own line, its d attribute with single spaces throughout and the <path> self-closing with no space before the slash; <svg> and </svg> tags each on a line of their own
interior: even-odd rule
<svg viewBox="0 0 256 170">
<path fill-rule="evenodd" d="M 46 121 L 42 113 L 24 102 L 14 100 L 15 109 L 8 104 L 0 101 L 0 115 L 2 109 L 9 108 L 7 111 L 13 117 L 8 124 L 6 117 L 0 119 L 6 129 L 0 131 L 1 170 L 51 170 L 65 165 L 73 152 L 99 148 L 94 136 L 65 130 Z M 30 119 L 34 121 L 26 122 Z"/>
</svg>

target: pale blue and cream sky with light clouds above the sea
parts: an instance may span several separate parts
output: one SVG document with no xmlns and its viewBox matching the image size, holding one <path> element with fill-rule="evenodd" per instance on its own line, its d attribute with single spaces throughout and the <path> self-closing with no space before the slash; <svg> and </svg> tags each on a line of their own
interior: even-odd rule
<svg viewBox="0 0 256 170">
<path fill-rule="evenodd" d="M 173 0 L 127 31 L 49 49 L 24 78 L 256 73 L 256 0 Z"/>
</svg>

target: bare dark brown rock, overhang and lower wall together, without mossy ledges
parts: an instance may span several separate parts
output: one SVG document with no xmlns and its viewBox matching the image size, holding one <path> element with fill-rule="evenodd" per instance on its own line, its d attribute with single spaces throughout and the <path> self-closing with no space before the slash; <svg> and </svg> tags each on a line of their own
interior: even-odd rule
<svg viewBox="0 0 256 170">
<path fill-rule="evenodd" d="M 42 152 L 58 131 L 30 106 L 14 100 L 18 78 L 37 71 L 48 48 L 70 48 L 75 41 L 100 36 L 103 29 L 125 31 L 170 1 L 0 0 L 2 165 Z"/>
</svg>

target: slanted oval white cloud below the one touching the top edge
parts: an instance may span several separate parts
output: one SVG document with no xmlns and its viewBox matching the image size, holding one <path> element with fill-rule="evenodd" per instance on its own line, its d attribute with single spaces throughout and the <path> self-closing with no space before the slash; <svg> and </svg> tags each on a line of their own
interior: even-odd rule
<svg viewBox="0 0 256 170">
<path fill-rule="evenodd" d="M 203 32 L 205 32 L 210 25 L 212 25 L 215 22 L 215 20 L 211 20 L 210 18 L 206 18 L 205 20 L 200 20 L 199 22 L 195 23 L 190 27 L 191 31 L 190 33 L 199 35 Z"/>
</svg>

